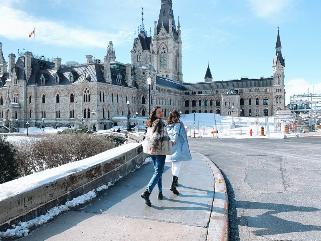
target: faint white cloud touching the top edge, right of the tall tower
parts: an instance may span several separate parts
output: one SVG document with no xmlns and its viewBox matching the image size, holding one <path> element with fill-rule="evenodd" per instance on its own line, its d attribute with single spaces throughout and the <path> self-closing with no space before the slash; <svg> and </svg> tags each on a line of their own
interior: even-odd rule
<svg viewBox="0 0 321 241">
<path fill-rule="evenodd" d="M 281 21 L 277 14 L 291 7 L 295 1 L 296 0 L 248 0 L 248 5 L 257 17 L 269 18 L 271 21 L 273 18 L 277 18 L 278 21 Z"/>
</svg>

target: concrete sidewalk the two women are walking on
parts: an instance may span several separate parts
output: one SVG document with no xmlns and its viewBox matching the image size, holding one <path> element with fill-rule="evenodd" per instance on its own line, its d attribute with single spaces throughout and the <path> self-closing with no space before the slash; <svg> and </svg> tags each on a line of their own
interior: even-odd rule
<svg viewBox="0 0 321 241">
<path fill-rule="evenodd" d="M 33 230 L 20 240 L 91 241 L 91 240 L 206 240 L 214 198 L 214 176 L 207 161 L 192 153 L 192 161 L 183 161 L 179 195 L 169 190 L 171 163 L 166 163 L 163 200 L 158 200 L 156 187 L 148 207 L 141 198 L 153 175 L 148 163 L 119 180 L 108 190 L 84 205 L 77 206 L 56 219 Z"/>
</svg>

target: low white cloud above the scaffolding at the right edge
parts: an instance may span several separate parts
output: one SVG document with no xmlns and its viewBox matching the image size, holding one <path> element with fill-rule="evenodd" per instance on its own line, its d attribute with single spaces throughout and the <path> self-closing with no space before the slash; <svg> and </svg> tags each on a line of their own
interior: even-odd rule
<svg viewBox="0 0 321 241">
<path fill-rule="evenodd" d="M 312 93 L 312 89 L 314 88 L 314 93 L 321 93 L 321 83 L 310 84 L 303 78 L 293 79 L 288 81 L 285 84 L 285 99 L 286 103 L 289 104 L 291 99 L 290 96 L 293 94 L 306 94 L 307 89 L 309 88 L 309 93 Z"/>
</svg>

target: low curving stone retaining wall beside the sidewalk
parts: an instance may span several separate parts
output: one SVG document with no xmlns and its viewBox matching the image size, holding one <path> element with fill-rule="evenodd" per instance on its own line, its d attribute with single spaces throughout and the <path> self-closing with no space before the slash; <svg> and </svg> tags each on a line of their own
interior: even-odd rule
<svg viewBox="0 0 321 241">
<path fill-rule="evenodd" d="M 87 168 L 75 172 L 70 169 L 69 173 L 71 174 L 59 176 L 55 180 L 51 179 L 48 183 L 40 186 L 36 185 L 36 187 L 31 190 L 1 200 L 0 231 L 5 231 L 10 225 L 17 225 L 20 221 L 29 221 L 42 214 L 46 214 L 48 210 L 55 206 L 65 204 L 68 200 L 86 194 L 101 185 L 108 185 L 108 182 L 114 182 L 119 176 L 130 173 L 136 168 L 136 165 L 143 163 L 147 155 L 143 153 L 141 144 L 127 145 L 130 145 L 129 149 L 126 149 L 126 145 L 116 148 L 115 150 L 119 152 L 117 155 L 111 152 L 111 150 L 96 155 L 97 159 L 101 160 L 99 163 L 96 162 L 94 165 L 89 165 Z M 131 146 L 133 145 L 134 147 L 132 148 Z M 104 158 L 105 156 L 106 159 Z M 84 163 L 85 160 L 87 159 L 78 162 Z M 73 165 L 78 162 L 74 162 Z M 61 169 L 63 166 L 58 168 Z M 49 170 L 45 170 L 44 172 L 46 171 Z M 39 173 L 35 173 L 26 177 L 30 180 L 30 178 L 32 179 L 32 175 L 37 174 L 39 175 Z M 19 183 L 19 179 L 11 181 L 14 182 L 11 183 L 11 185 Z M 6 185 L 10 186 L 9 183 L 10 182 L 1 184 L 0 190 L 5 188 Z"/>
</svg>

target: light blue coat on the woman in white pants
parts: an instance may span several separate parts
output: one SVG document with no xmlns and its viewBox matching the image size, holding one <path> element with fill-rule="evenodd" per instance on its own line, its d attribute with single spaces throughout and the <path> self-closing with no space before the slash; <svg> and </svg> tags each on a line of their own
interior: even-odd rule
<svg viewBox="0 0 321 241">
<path fill-rule="evenodd" d="M 166 127 L 170 140 L 176 144 L 172 146 L 173 154 L 166 155 L 165 161 L 192 160 L 183 123 L 178 121 L 178 123 L 167 125 Z"/>
</svg>

